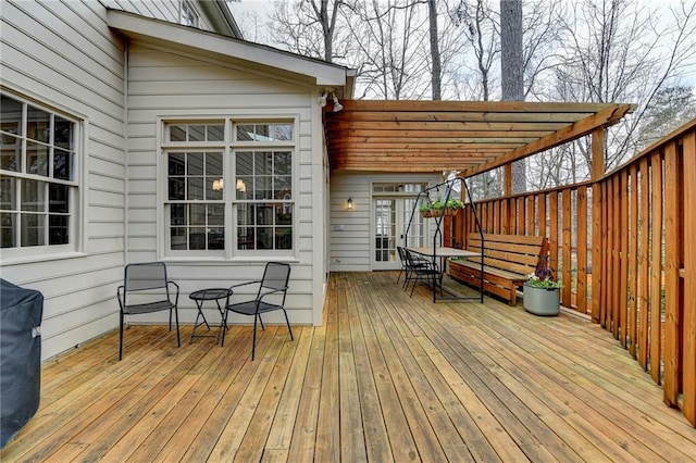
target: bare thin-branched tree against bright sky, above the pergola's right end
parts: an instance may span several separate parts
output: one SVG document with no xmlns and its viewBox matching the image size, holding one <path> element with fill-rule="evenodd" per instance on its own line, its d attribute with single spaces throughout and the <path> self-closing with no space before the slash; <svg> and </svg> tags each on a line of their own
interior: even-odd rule
<svg viewBox="0 0 696 463">
<path fill-rule="evenodd" d="M 696 3 L 682 2 L 670 14 L 673 21 L 660 21 L 652 8 L 630 0 L 582 0 L 560 18 L 567 58 L 557 66 L 557 98 L 638 105 L 609 133 L 608 168 L 636 152 L 646 111 L 696 57 Z M 588 146 L 579 152 L 591 168 Z"/>
</svg>

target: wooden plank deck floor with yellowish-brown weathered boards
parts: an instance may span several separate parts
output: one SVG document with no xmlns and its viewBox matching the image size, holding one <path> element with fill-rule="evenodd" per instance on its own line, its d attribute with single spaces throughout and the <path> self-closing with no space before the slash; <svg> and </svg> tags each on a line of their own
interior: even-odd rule
<svg viewBox="0 0 696 463">
<path fill-rule="evenodd" d="M 322 327 L 183 346 L 117 330 L 42 368 L 2 462 L 696 461 L 696 429 L 607 331 L 522 306 L 433 304 L 396 273 L 333 274 Z"/>
</svg>

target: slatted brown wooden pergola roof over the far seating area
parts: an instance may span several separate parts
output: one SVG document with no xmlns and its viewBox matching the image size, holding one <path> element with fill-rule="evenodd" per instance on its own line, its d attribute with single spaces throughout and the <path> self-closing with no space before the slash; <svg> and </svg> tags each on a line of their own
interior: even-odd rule
<svg viewBox="0 0 696 463">
<path fill-rule="evenodd" d="M 456 170 L 464 176 L 606 128 L 634 108 L 613 103 L 406 100 L 345 100 L 343 105 L 343 111 L 325 113 L 332 168 L 412 173 Z"/>
</svg>

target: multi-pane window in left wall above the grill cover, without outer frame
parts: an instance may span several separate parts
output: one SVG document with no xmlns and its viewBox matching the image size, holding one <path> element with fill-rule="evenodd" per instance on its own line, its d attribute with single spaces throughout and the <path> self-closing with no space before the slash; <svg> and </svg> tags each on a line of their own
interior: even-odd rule
<svg viewBox="0 0 696 463">
<path fill-rule="evenodd" d="M 77 123 L 8 95 L 0 102 L 0 245 L 76 250 Z"/>
</svg>

